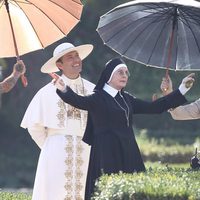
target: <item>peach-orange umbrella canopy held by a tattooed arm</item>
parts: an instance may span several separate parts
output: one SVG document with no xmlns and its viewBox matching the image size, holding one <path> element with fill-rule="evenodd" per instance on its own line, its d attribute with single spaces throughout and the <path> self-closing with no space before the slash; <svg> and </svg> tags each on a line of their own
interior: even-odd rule
<svg viewBox="0 0 200 200">
<path fill-rule="evenodd" d="M 44 48 L 79 22 L 80 0 L 0 0 L 0 57 Z"/>
</svg>

